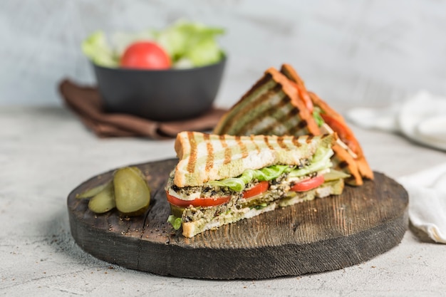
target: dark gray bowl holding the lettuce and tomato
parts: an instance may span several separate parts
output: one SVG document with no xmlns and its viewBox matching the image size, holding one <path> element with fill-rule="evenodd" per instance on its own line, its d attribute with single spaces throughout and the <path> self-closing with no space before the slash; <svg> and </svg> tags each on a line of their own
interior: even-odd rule
<svg viewBox="0 0 446 297">
<path fill-rule="evenodd" d="M 189 69 L 105 68 L 93 63 L 105 110 L 156 121 L 194 118 L 212 108 L 226 58 Z"/>
</svg>

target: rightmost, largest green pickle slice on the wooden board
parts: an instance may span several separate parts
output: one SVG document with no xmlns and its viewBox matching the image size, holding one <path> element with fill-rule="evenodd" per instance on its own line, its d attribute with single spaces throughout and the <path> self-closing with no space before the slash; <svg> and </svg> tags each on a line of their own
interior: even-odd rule
<svg viewBox="0 0 446 297">
<path fill-rule="evenodd" d="M 124 167 L 113 178 L 116 208 L 127 216 L 143 214 L 150 204 L 150 189 L 138 167 Z"/>
</svg>

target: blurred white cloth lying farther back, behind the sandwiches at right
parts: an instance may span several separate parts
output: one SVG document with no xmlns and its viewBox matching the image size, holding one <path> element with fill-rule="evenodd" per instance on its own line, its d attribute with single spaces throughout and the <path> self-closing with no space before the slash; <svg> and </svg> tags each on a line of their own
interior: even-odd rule
<svg viewBox="0 0 446 297">
<path fill-rule="evenodd" d="M 360 127 L 400 132 L 415 142 L 446 150 L 446 98 L 426 91 L 388 108 L 353 108 L 346 117 Z"/>
</svg>

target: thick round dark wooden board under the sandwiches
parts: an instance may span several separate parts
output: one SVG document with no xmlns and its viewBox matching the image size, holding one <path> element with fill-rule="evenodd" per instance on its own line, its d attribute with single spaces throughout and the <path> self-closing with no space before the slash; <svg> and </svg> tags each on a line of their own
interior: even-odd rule
<svg viewBox="0 0 446 297">
<path fill-rule="evenodd" d="M 68 195 L 71 234 L 89 254 L 112 264 L 161 275 L 237 279 L 297 276 L 341 269 L 396 246 L 408 227 L 408 194 L 375 172 L 374 181 L 342 195 L 314 199 L 205 231 L 192 239 L 166 222 L 164 186 L 177 160 L 136 165 L 152 189 L 141 217 L 97 215 L 76 195 L 108 182 L 113 170 Z"/>
</svg>

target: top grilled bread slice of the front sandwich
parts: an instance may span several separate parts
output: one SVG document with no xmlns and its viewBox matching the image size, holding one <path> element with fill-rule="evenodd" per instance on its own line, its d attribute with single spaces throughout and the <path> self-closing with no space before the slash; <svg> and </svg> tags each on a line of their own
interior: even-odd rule
<svg viewBox="0 0 446 297">
<path fill-rule="evenodd" d="M 174 184 L 199 186 L 211 180 L 237 177 L 247 169 L 302 165 L 318 147 L 329 148 L 336 139 L 336 134 L 295 137 L 180 132 L 175 141 L 180 161 L 175 168 Z"/>
</svg>

